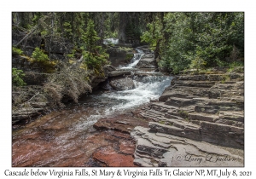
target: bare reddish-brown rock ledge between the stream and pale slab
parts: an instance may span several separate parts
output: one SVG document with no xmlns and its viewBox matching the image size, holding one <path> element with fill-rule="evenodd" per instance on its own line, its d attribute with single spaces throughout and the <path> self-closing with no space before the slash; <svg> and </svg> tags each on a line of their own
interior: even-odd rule
<svg viewBox="0 0 256 179">
<path fill-rule="evenodd" d="M 131 115 L 119 115 L 113 118 L 101 118 L 93 125 L 97 130 L 110 131 L 112 145 L 99 147 L 92 154 L 90 165 L 102 164 L 102 166 L 137 166 L 133 163 L 135 141 L 130 132 L 136 126 L 148 126 L 148 121 Z M 108 136 L 105 136 L 107 139 Z"/>
</svg>

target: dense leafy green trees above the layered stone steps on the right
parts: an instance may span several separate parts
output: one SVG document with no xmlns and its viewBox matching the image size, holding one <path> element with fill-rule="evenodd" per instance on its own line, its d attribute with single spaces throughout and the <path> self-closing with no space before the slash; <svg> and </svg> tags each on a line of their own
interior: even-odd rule
<svg viewBox="0 0 256 179">
<path fill-rule="evenodd" d="M 227 66 L 244 55 L 243 13 L 166 13 L 164 20 L 154 18 L 148 28 L 142 41 L 154 49 L 163 39 L 159 66 L 174 73 Z"/>
</svg>

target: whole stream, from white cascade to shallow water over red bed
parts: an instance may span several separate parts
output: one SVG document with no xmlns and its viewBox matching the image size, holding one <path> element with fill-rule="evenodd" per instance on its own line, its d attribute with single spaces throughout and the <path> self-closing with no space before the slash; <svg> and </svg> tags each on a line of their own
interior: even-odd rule
<svg viewBox="0 0 256 179">
<path fill-rule="evenodd" d="M 121 68 L 132 68 L 142 55 L 138 51 L 131 64 Z M 14 130 L 13 166 L 84 166 L 98 144 L 106 142 L 101 137 L 95 138 L 92 125 L 99 118 L 136 109 L 158 98 L 171 84 L 170 76 L 142 73 L 133 75 L 136 87 L 133 90 L 97 91 L 82 97 L 78 104 L 68 104 Z"/>
</svg>

